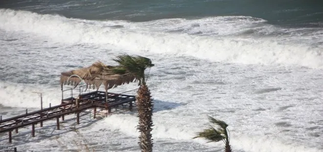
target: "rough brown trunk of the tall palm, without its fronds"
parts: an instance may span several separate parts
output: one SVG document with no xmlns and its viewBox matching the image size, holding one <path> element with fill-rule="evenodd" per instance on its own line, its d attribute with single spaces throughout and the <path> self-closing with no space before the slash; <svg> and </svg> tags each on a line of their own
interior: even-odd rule
<svg viewBox="0 0 323 152">
<path fill-rule="evenodd" d="M 138 96 L 136 104 L 139 117 L 138 130 L 140 132 L 138 144 L 141 152 L 152 152 L 153 139 L 151 131 L 153 127 L 152 116 L 154 103 L 152 102 L 150 90 L 147 85 L 140 85 L 137 93 Z"/>
</svg>

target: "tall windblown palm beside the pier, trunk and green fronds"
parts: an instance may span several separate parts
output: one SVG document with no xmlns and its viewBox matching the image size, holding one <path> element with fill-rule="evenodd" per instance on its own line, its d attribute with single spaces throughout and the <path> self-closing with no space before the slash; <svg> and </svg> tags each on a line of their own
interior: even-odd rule
<svg viewBox="0 0 323 152">
<path fill-rule="evenodd" d="M 136 76 L 139 81 L 139 89 L 137 91 L 138 96 L 136 97 L 139 117 L 137 129 L 140 132 L 138 144 L 141 152 L 152 152 L 153 139 L 151 131 L 153 127 L 152 116 L 154 103 L 150 95 L 150 90 L 146 85 L 147 79 L 145 78 L 145 69 L 153 67 L 154 64 L 151 63 L 149 58 L 138 55 L 130 56 L 123 54 L 118 55 L 113 60 L 119 63 L 121 68 Z"/>
</svg>

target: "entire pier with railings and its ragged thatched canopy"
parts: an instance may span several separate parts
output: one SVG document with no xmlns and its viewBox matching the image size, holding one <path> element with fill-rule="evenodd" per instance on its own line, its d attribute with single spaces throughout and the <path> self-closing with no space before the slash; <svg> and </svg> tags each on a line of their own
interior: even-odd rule
<svg viewBox="0 0 323 152">
<path fill-rule="evenodd" d="M 118 74 L 115 71 L 118 71 Z M 120 74 L 120 72 L 123 73 Z M 31 126 L 31 134 L 34 137 L 37 124 L 43 127 L 44 122 L 56 119 L 56 128 L 60 129 L 59 119 L 61 118 L 64 121 L 64 117 L 70 114 L 76 114 L 76 122 L 79 124 L 80 112 L 87 109 L 93 109 L 94 118 L 96 117 L 97 108 L 105 109 L 107 111 L 106 115 L 127 107 L 132 110 L 136 101 L 135 96 L 110 93 L 108 89 L 136 80 L 137 76 L 130 71 L 122 68 L 120 71 L 120 66 L 106 66 L 102 62 L 95 62 L 89 67 L 62 72 L 60 77 L 62 102 L 60 105 L 49 105 L 49 108 L 43 108 L 42 94 L 40 93 L 41 110 L 28 112 L 26 109 L 26 113 L 23 115 L 3 120 L 1 116 L 0 133 L 8 132 L 9 143 L 11 143 L 12 131 L 14 130 L 18 133 L 19 128 Z M 79 86 L 80 83 L 84 83 L 84 85 Z M 73 86 L 73 89 L 64 90 L 64 85 Z M 101 85 L 104 86 L 105 91 L 98 91 Z M 79 86 L 79 89 L 75 89 L 77 86 Z M 96 89 L 96 91 L 85 93 L 90 88 Z M 67 91 L 70 91 L 69 98 L 64 98 L 64 93 Z M 73 91 L 76 91 L 77 96 L 73 96 Z"/>
</svg>

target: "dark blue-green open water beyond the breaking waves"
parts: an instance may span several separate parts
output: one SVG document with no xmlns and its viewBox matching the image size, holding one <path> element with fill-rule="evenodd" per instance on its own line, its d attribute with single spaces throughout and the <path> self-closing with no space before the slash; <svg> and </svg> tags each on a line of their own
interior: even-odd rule
<svg viewBox="0 0 323 152">
<path fill-rule="evenodd" d="M 87 20 L 252 16 L 275 25 L 323 26 L 321 0 L 5 0 L 0 7 Z"/>
</svg>

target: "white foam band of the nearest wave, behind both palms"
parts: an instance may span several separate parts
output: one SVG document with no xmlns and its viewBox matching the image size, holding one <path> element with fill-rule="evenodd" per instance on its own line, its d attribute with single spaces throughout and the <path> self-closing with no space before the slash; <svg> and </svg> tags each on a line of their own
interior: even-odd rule
<svg viewBox="0 0 323 152">
<path fill-rule="evenodd" d="M 154 114 L 154 127 L 152 131 L 153 139 L 175 139 L 181 141 L 197 142 L 210 147 L 224 147 L 222 142 L 207 144 L 206 140 L 198 138 L 192 139 L 195 133 L 201 131 L 205 124 L 185 124 L 173 120 L 165 120 L 165 117 L 159 113 Z M 171 116 L 168 116 L 171 117 Z M 114 114 L 104 120 L 103 128 L 119 130 L 127 136 L 138 137 L 139 132 L 136 129 L 138 117 L 129 114 Z M 191 122 L 190 122 L 191 123 Z M 158 143 L 157 143 L 158 144 Z M 315 148 L 308 148 L 297 145 L 293 142 L 284 141 L 281 138 L 274 138 L 266 135 L 248 135 L 239 134 L 231 131 L 231 147 L 233 150 L 243 150 L 245 152 L 320 152 Z"/>
</svg>

